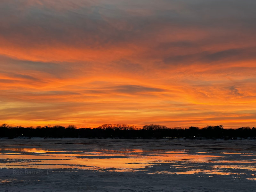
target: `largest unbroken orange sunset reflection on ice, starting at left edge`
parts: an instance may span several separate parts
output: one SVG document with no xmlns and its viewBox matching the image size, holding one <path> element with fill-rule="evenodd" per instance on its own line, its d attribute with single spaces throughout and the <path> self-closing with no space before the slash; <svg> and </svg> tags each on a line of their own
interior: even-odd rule
<svg viewBox="0 0 256 192">
<path fill-rule="evenodd" d="M 12 150 L 16 150 L 12 148 Z M 80 152 L 72 154 L 68 151 L 48 151 L 35 148 L 24 148 L 21 151 L 29 151 L 36 154 L 10 154 L 1 155 L 4 159 L 16 159 L 11 163 L 0 163 L 0 167 L 23 168 L 81 168 L 81 169 L 114 169 L 137 170 L 146 169 L 148 166 L 160 163 L 175 162 L 205 162 L 219 156 L 212 155 L 188 155 L 185 151 L 164 150 L 107 150 L 93 151 L 93 153 Z M 43 154 L 41 154 L 43 153 Z M 25 161 L 24 161 L 25 160 Z"/>
</svg>

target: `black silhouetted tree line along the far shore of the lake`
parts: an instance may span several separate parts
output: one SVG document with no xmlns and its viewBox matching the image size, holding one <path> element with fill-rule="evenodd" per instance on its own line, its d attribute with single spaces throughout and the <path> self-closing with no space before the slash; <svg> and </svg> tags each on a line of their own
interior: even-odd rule
<svg viewBox="0 0 256 192">
<path fill-rule="evenodd" d="M 0 125 L 0 138 L 116 138 L 116 139 L 256 139 L 255 127 L 224 129 L 222 125 L 198 128 L 168 128 L 150 124 L 138 129 L 127 124 L 104 124 L 97 128 L 77 128 L 75 125 L 45 125 L 43 127 L 22 127 Z"/>
</svg>

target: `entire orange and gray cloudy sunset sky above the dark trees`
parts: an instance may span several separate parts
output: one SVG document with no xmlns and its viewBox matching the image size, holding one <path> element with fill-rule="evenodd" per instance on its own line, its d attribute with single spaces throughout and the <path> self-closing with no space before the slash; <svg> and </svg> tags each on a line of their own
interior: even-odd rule
<svg viewBox="0 0 256 192">
<path fill-rule="evenodd" d="M 0 123 L 256 126 L 255 0 L 1 0 Z"/>
</svg>

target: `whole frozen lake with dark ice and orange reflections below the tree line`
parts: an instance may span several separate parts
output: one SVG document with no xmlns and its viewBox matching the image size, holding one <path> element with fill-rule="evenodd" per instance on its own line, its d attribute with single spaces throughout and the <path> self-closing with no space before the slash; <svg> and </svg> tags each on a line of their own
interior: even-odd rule
<svg viewBox="0 0 256 192">
<path fill-rule="evenodd" d="M 0 139 L 0 191 L 255 191 L 255 143 Z"/>
</svg>

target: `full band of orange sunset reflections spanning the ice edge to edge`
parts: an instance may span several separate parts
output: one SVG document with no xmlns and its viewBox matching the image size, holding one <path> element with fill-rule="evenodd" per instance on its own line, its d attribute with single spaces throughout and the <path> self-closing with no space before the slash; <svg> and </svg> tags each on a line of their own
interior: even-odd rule
<svg viewBox="0 0 256 192">
<path fill-rule="evenodd" d="M 9 151 L 10 153 L 8 153 Z M 176 170 L 154 171 L 156 174 L 240 174 L 229 172 L 227 169 L 244 169 L 256 171 L 250 165 L 250 160 L 230 160 L 220 154 L 189 153 L 187 150 L 168 151 L 162 149 L 94 149 L 92 151 L 45 150 L 42 148 L 2 148 L 0 168 L 40 168 L 60 169 L 76 168 L 96 171 L 135 172 L 149 170 L 151 167 L 161 167 L 169 164 L 169 168 Z M 19 151 L 15 153 L 15 151 Z M 21 152 L 21 154 L 19 154 Z M 241 154 L 240 154 L 241 155 Z M 243 154 L 244 156 L 244 154 Z M 198 168 L 198 164 L 209 165 Z M 222 165 L 226 164 L 226 165 Z"/>
</svg>

